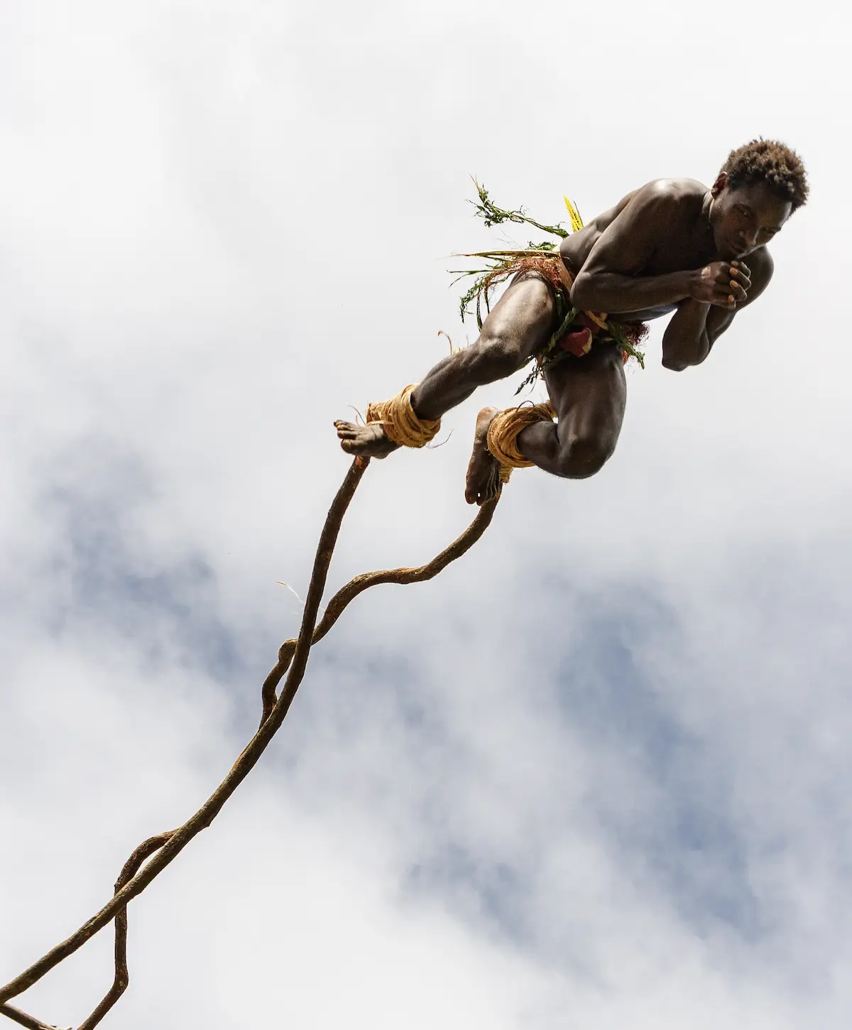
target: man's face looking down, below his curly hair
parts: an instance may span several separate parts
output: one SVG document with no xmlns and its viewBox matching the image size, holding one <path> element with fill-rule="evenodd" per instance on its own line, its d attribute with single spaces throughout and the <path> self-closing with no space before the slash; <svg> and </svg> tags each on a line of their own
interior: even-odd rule
<svg viewBox="0 0 852 1030">
<path fill-rule="evenodd" d="M 745 258 L 780 232 L 792 212 L 766 182 L 752 182 L 732 190 L 724 172 L 713 185 L 711 224 L 719 255 L 729 261 Z"/>
</svg>

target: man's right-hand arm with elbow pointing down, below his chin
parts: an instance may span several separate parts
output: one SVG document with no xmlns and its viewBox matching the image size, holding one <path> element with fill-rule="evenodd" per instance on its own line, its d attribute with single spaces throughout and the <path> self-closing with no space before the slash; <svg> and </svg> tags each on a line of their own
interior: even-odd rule
<svg viewBox="0 0 852 1030">
<path fill-rule="evenodd" d="M 775 268 L 772 254 L 766 247 L 759 247 L 748 260 L 750 266 L 745 269 L 745 274 L 750 276 L 751 286 L 746 299 L 738 302 L 733 310 L 691 299 L 678 305 L 663 335 L 665 368 L 683 372 L 693 365 L 701 365 L 716 340 L 734 321 L 736 313 L 756 301 L 767 288 Z M 742 267 L 741 262 L 738 264 Z"/>
</svg>

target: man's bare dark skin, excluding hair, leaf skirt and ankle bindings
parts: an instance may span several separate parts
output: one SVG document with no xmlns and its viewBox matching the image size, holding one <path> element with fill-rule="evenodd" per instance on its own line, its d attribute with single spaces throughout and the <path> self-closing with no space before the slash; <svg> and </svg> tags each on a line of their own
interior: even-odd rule
<svg viewBox="0 0 852 1030">
<path fill-rule="evenodd" d="M 574 275 L 571 303 L 606 311 L 620 322 L 672 315 L 663 365 L 675 372 L 701 365 L 738 311 L 772 278 L 769 241 L 792 205 L 767 182 L 732 188 L 722 172 L 709 190 L 694 179 L 656 179 L 629 194 L 582 230 L 561 254 Z M 541 279 L 521 276 L 503 294 L 470 347 L 439 362 L 412 394 L 420 418 L 439 418 L 476 389 L 513 375 L 547 342 L 556 302 Z M 544 375 L 558 423 L 538 422 L 518 437 L 521 453 L 568 479 L 598 472 L 615 449 L 627 396 L 622 352 L 595 342 L 581 358 Z M 486 447 L 495 408 L 476 418 L 465 499 L 485 504 L 499 490 L 497 461 Z M 379 423 L 334 423 L 349 454 L 386 457 L 396 450 Z"/>
</svg>

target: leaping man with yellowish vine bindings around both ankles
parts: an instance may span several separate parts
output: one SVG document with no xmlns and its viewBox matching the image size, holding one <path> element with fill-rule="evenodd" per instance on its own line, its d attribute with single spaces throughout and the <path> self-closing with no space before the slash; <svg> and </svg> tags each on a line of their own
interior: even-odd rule
<svg viewBox="0 0 852 1030">
<path fill-rule="evenodd" d="M 541 272 L 541 259 L 521 263 L 474 344 L 399 397 L 371 405 L 366 425 L 335 422 L 341 446 L 370 457 L 423 446 L 446 411 L 532 357 L 542 365 L 551 405 L 480 412 L 468 504 L 494 499 L 511 468 L 594 475 L 614 451 L 625 413 L 625 334 L 606 332 L 611 316 L 636 331 L 674 313 L 663 365 L 675 372 L 700 365 L 737 312 L 767 288 L 767 244 L 807 198 L 798 157 L 767 140 L 733 150 L 709 190 L 694 179 L 656 179 L 628 194 L 562 240 L 547 261 L 555 274 Z M 573 309 L 582 312 L 580 329 L 567 333 Z M 551 352 L 567 359 L 543 362 Z"/>
</svg>

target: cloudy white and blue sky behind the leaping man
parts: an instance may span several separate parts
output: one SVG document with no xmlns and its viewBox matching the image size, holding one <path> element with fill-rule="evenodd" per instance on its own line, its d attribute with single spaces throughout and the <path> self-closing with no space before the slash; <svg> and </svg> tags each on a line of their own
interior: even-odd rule
<svg viewBox="0 0 852 1030">
<path fill-rule="evenodd" d="M 847 54 L 839 6 L 808 15 L 0 4 L 0 982 L 253 732 L 332 420 L 473 341 L 454 251 L 525 242 L 470 176 L 588 218 L 765 136 L 812 199 L 759 304 L 684 373 L 658 325 L 599 475 L 516 473 L 462 560 L 352 605 L 131 905 L 104 1026 L 849 1025 Z M 475 412 L 514 386 L 372 462 L 329 591 L 464 528 Z M 78 1025 L 111 947 L 16 1003 Z"/>
</svg>

